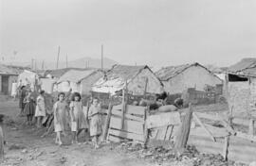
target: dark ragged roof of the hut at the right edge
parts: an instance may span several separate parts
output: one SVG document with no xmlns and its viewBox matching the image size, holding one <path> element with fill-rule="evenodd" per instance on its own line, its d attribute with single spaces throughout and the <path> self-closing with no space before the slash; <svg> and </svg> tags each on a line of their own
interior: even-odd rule
<svg viewBox="0 0 256 166">
<path fill-rule="evenodd" d="M 256 58 L 243 58 L 229 67 L 229 73 L 235 75 L 256 76 Z"/>
</svg>

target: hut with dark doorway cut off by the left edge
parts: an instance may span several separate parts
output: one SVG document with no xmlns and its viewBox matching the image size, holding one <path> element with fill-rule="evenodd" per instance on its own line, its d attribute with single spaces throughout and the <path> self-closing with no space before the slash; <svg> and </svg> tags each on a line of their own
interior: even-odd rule
<svg viewBox="0 0 256 166">
<path fill-rule="evenodd" d="M 0 64 L 0 92 L 11 94 L 12 84 L 17 85 L 18 75 L 21 70 Z"/>
</svg>

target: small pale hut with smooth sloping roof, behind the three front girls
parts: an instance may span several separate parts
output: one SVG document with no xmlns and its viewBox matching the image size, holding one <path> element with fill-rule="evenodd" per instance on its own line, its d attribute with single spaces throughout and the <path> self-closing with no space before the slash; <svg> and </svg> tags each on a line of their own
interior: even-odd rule
<svg viewBox="0 0 256 166">
<path fill-rule="evenodd" d="M 92 85 L 102 76 L 103 73 L 100 70 L 70 70 L 57 81 L 57 90 L 69 91 L 72 89 L 72 91 L 88 94 Z"/>
</svg>

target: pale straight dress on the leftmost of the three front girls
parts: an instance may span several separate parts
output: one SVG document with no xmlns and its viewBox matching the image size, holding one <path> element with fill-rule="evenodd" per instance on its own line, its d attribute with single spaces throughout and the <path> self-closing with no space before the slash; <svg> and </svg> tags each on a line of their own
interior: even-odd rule
<svg viewBox="0 0 256 166">
<path fill-rule="evenodd" d="M 66 103 L 65 102 L 56 102 L 53 106 L 53 115 L 54 115 L 54 131 L 60 132 L 64 131 L 66 128 Z M 57 121 L 57 118 L 59 122 Z"/>
</svg>

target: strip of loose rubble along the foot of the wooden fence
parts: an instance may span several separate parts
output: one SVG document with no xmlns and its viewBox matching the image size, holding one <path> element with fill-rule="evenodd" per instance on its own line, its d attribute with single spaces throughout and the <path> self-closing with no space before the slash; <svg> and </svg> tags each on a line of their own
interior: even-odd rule
<svg viewBox="0 0 256 166">
<path fill-rule="evenodd" d="M 157 163 L 179 163 L 192 166 L 208 166 L 208 165 L 236 165 L 244 166 L 242 163 L 235 163 L 233 161 L 226 161 L 221 155 L 201 154 L 197 151 L 195 146 L 188 145 L 186 150 L 177 155 L 174 149 L 165 149 L 162 146 L 150 147 L 144 149 L 141 144 L 133 142 L 122 142 L 117 149 L 122 150 L 126 154 L 135 155 L 137 158 L 149 159 Z"/>
</svg>

